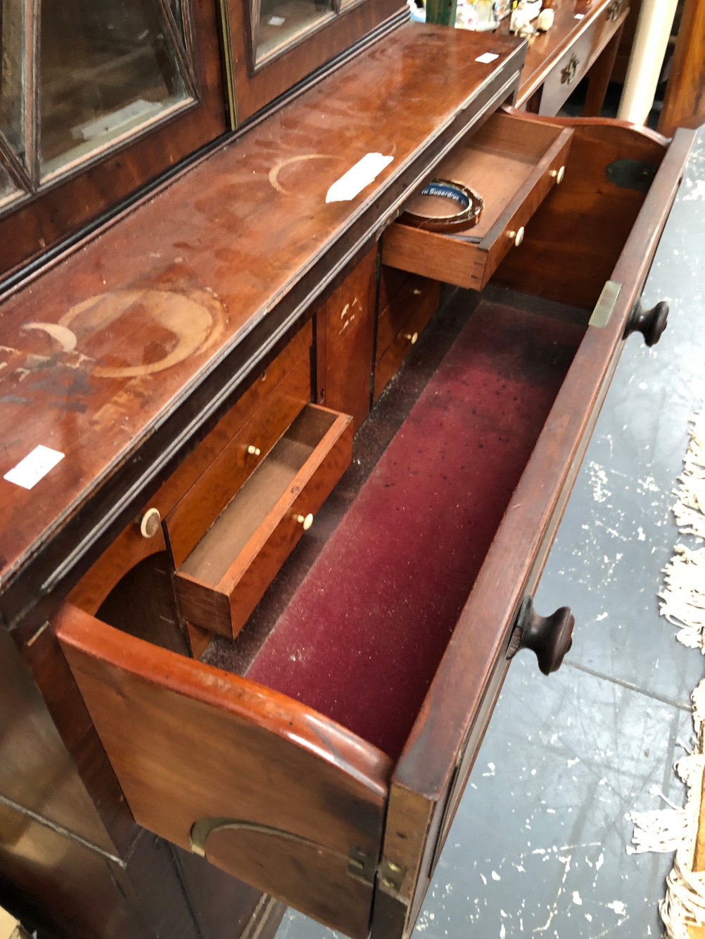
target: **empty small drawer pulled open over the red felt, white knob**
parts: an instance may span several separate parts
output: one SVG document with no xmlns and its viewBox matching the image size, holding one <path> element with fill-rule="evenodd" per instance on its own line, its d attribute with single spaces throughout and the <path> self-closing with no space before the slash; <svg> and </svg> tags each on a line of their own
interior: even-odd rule
<svg viewBox="0 0 705 939">
<path fill-rule="evenodd" d="M 303 408 L 176 571 L 185 618 L 235 636 L 351 458 L 351 418 Z"/>
</svg>

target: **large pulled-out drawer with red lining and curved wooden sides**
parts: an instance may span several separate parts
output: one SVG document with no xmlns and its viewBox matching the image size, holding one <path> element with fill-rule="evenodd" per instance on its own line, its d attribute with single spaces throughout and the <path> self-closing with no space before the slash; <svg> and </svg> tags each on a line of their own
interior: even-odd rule
<svg viewBox="0 0 705 939">
<path fill-rule="evenodd" d="M 576 125 L 568 204 L 546 200 L 528 239 L 556 278 L 522 273 L 533 306 L 478 307 L 439 366 L 446 385 L 421 392 L 244 677 L 69 605 L 54 617 L 139 824 L 354 939 L 408 935 L 511 654 L 527 644 L 524 614 L 625 336 L 648 333 L 635 310 L 693 136 L 667 147 Z M 646 196 L 605 177 L 594 199 L 616 159 L 660 163 Z M 590 254 L 580 239 L 613 216 Z M 611 300 L 590 326 L 608 263 Z M 563 303 L 575 289 L 572 318 L 549 309 L 548 289 Z M 462 492 L 452 460 L 467 471 Z M 434 566 L 441 554 L 451 566 Z"/>
</svg>

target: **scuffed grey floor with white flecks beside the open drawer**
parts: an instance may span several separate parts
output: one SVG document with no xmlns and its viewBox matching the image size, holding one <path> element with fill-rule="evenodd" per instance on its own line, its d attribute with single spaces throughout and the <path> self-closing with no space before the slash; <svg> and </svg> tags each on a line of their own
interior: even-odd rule
<svg viewBox="0 0 705 939">
<path fill-rule="evenodd" d="M 659 807 L 654 784 L 682 804 L 671 766 L 705 672 L 656 599 L 688 418 L 705 399 L 704 269 L 701 131 L 644 291 L 668 300 L 668 329 L 652 349 L 625 345 L 536 594 L 540 612 L 573 609 L 573 649 L 550 678 L 514 659 L 415 939 L 661 935 L 672 855 L 627 855 L 624 815 Z M 288 910 L 277 939 L 334 935 Z"/>
</svg>

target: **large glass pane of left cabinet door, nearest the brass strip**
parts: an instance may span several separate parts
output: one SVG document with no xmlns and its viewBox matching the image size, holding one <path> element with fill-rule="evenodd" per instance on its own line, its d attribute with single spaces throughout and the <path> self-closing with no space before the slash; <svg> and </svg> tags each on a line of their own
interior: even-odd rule
<svg viewBox="0 0 705 939">
<path fill-rule="evenodd" d="M 46 175 L 188 98 L 158 0 L 42 0 Z"/>
</svg>

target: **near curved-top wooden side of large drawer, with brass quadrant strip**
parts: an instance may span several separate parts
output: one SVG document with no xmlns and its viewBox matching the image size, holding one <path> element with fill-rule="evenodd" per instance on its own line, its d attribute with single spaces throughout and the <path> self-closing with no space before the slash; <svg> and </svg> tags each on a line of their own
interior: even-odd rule
<svg viewBox="0 0 705 939">
<path fill-rule="evenodd" d="M 297 701 L 77 608 L 54 627 L 137 821 L 186 849 L 200 819 L 276 829 L 215 832 L 207 857 L 364 939 L 372 883 L 347 859 L 351 845 L 377 856 L 389 758 Z"/>
</svg>

